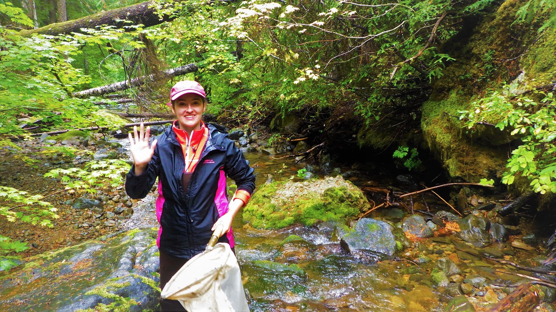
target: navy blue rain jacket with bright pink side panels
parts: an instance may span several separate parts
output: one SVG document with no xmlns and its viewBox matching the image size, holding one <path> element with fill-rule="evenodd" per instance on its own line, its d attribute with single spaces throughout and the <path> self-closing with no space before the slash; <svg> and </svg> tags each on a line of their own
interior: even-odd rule
<svg viewBox="0 0 556 312">
<path fill-rule="evenodd" d="M 254 169 L 224 128 L 205 125 L 209 138 L 185 192 L 181 182 L 185 161 L 172 125 L 156 137 L 155 153 L 145 172 L 135 175 L 133 165 L 126 176 L 126 192 L 133 199 L 146 197 L 158 177 L 157 245 L 161 251 L 178 258 L 192 258 L 205 250 L 212 225 L 228 211 L 226 175 L 236 182 L 237 189 L 250 194 L 255 189 Z M 234 247 L 231 231 L 219 241 Z"/>
</svg>

